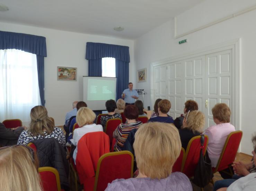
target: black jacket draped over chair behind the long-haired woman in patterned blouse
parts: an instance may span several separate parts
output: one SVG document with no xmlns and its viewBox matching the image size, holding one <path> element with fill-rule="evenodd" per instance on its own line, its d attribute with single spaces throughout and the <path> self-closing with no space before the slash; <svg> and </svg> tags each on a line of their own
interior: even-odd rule
<svg viewBox="0 0 256 191">
<path fill-rule="evenodd" d="M 69 190 L 69 164 L 65 149 L 54 138 L 31 141 L 36 145 L 39 167 L 53 167 L 60 174 L 61 188 Z"/>
</svg>

